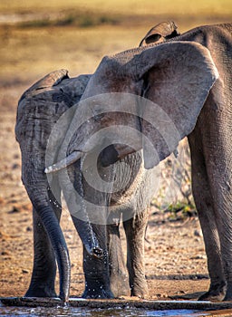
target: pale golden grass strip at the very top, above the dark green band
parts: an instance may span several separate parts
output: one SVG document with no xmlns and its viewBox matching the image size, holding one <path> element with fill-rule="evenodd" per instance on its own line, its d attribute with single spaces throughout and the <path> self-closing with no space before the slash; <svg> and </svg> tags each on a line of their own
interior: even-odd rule
<svg viewBox="0 0 232 317">
<path fill-rule="evenodd" d="M 2 0 L 0 10 L 3 13 L 28 13 L 63 11 L 75 8 L 92 12 L 105 12 L 114 14 L 228 14 L 231 13 L 232 4 L 230 0 L 87 0 L 78 2 L 76 0 Z"/>
</svg>

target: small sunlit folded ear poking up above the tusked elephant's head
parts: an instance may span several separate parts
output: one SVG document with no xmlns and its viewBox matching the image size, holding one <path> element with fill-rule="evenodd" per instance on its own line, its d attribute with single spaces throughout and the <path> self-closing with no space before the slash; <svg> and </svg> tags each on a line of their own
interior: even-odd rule
<svg viewBox="0 0 232 317">
<path fill-rule="evenodd" d="M 140 46 L 146 46 L 150 43 L 161 43 L 178 35 L 178 27 L 173 21 L 162 22 L 150 29 L 141 40 Z"/>
</svg>

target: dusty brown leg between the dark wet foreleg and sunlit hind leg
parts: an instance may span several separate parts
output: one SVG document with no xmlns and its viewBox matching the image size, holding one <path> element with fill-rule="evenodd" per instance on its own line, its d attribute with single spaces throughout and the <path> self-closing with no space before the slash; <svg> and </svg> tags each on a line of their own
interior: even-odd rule
<svg viewBox="0 0 232 317">
<path fill-rule="evenodd" d="M 110 264 L 111 292 L 115 297 L 122 295 L 130 296 L 128 271 L 124 262 L 121 249 L 120 216 L 111 212 L 108 228 L 108 249 Z"/>
</svg>

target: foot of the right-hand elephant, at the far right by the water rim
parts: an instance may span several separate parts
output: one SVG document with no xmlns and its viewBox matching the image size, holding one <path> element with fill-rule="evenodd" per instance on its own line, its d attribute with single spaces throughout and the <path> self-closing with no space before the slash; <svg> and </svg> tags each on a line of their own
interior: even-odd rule
<svg viewBox="0 0 232 317">
<path fill-rule="evenodd" d="M 198 301 L 222 302 L 223 300 L 225 301 L 227 298 L 226 293 L 227 293 L 227 285 L 225 282 L 211 284 L 208 292 L 201 295 L 198 298 Z M 231 299 L 232 299 L 232 293 L 230 293 L 230 300 Z"/>
</svg>

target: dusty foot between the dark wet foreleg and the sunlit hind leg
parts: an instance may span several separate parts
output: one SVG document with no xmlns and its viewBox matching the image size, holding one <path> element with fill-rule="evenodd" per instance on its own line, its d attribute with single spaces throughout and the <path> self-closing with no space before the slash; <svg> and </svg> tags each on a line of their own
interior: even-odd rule
<svg viewBox="0 0 232 317">
<path fill-rule="evenodd" d="M 131 295 L 129 278 L 126 274 L 111 275 L 111 292 L 114 297 Z"/>
</svg>

